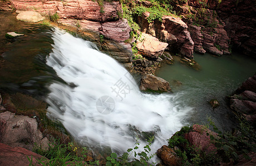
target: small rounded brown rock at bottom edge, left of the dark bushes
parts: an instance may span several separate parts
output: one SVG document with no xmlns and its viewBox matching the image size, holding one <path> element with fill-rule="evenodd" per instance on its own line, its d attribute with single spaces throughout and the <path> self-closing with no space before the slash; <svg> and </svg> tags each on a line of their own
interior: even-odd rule
<svg viewBox="0 0 256 166">
<path fill-rule="evenodd" d="M 176 153 L 168 146 L 163 146 L 156 151 L 157 157 L 161 159 L 164 165 L 180 165 L 180 159 L 176 157 Z"/>
</svg>

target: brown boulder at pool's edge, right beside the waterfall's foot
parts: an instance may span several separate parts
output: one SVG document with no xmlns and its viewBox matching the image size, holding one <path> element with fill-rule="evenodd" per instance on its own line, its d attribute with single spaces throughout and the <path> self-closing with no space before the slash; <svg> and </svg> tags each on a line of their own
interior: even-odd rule
<svg viewBox="0 0 256 166">
<path fill-rule="evenodd" d="M 170 92 L 170 84 L 164 79 L 145 74 L 142 76 L 140 81 L 140 90 L 141 91 L 153 91 L 153 92 Z"/>
</svg>

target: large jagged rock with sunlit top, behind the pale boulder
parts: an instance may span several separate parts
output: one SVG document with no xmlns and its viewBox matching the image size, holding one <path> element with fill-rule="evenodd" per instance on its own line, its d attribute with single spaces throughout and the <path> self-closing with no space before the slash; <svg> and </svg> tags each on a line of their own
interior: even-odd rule
<svg viewBox="0 0 256 166">
<path fill-rule="evenodd" d="M 155 20 L 154 23 L 148 23 L 147 17 L 149 17 L 147 12 L 138 17 L 142 32 L 151 34 L 153 37 L 168 43 L 167 50 L 193 58 L 194 42 L 190 37 L 188 25 L 180 18 L 169 15 L 164 15 L 162 22 Z"/>
</svg>

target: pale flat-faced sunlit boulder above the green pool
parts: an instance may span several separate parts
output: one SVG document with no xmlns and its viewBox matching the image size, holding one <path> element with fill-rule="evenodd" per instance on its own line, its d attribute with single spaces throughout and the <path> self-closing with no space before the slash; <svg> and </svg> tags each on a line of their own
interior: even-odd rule
<svg viewBox="0 0 256 166">
<path fill-rule="evenodd" d="M 167 43 L 159 42 L 159 40 L 152 35 L 142 33 L 142 41 L 137 43 L 137 49 L 139 54 L 149 56 L 151 58 L 157 58 L 163 54 Z"/>
</svg>

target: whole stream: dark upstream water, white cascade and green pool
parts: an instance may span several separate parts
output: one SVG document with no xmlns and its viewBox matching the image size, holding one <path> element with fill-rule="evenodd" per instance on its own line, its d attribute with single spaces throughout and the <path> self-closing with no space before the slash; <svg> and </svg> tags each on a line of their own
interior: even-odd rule
<svg viewBox="0 0 256 166">
<path fill-rule="evenodd" d="M 152 152 L 189 123 L 203 123 L 211 115 L 217 125 L 232 128 L 234 116 L 225 96 L 252 76 L 255 60 L 232 55 L 216 58 L 195 54 L 201 71 L 179 64 L 166 65 L 157 76 L 172 82 L 173 94 L 143 94 L 132 76 L 96 46 L 58 29 L 17 20 L 2 26 L 0 90 L 47 96 L 48 116 L 63 123 L 77 142 L 117 153 L 140 149 L 154 135 Z M 18 25 L 20 27 L 18 27 Z M 11 42 L 6 32 L 24 33 Z M 208 101 L 216 98 L 214 110 Z"/>
</svg>

